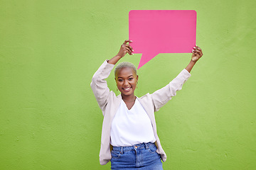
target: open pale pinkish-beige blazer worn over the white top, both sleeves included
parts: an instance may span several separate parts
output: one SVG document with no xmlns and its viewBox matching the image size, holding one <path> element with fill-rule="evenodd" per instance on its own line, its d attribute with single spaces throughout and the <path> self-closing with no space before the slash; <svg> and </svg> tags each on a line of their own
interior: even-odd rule
<svg viewBox="0 0 256 170">
<path fill-rule="evenodd" d="M 97 72 L 93 75 L 92 82 L 90 84 L 93 94 L 95 94 L 97 103 L 104 116 L 100 146 L 100 164 L 102 165 L 107 164 L 111 159 L 110 128 L 114 115 L 122 100 L 121 95 L 116 96 L 113 91 L 110 91 L 107 87 L 107 81 L 105 80 L 110 76 L 110 72 L 113 68 L 114 64 L 107 63 L 107 60 L 103 62 Z M 151 120 L 154 136 L 156 137 L 156 146 L 158 148 L 156 152 L 161 154 L 163 162 L 166 161 L 166 154 L 164 149 L 161 147 L 159 137 L 156 133 L 154 112 L 159 111 L 159 108 L 164 106 L 164 104 L 171 100 L 173 96 L 176 96 L 176 91 L 181 90 L 183 84 L 189 77 L 191 77 L 191 74 L 186 69 L 183 69 L 174 80 L 162 89 L 155 91 L 153 94 L 146 94 L 138 98 Z"/>
</svg>

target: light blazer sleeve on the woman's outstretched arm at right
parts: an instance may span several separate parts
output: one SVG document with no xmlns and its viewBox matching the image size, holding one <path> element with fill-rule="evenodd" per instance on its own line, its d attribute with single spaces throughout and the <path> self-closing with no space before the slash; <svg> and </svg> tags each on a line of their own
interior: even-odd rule
<svg viewBox="0 0 256 170">
<path fill-rule="evenodd" d="M 182 89 L 183 84 L 189 77 L 191 77 L 191 74 L 186 69 L 183 69 L 169 84 L 151 94 L 154 110 L 159 111 L 173 96 L 176 96 L 176 91 Z"/>
</svg>

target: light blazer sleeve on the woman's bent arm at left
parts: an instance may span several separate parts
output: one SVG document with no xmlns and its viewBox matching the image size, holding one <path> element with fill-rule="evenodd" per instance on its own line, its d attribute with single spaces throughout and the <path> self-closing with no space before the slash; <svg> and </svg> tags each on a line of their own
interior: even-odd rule
<svg viewBox="0 0 256 170">
<path fill-rule="evenodd" d="M 107 81 L 105 79 L 110 76 L 110 72 L 113 68 L 114 64 L 109 64 L 107 60 L 105 60 L 92 77 L 90 86 L 100 109 L 106 106 L 107 98 L 110 95 L 110 89 L 107 87 Z"/>
</svg>

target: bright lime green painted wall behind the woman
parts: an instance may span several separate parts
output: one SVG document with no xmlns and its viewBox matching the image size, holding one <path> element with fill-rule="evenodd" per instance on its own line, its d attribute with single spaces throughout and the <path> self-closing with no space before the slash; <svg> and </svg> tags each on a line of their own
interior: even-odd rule
<svg viewBox="0 0 256 170">
<path fill-rule="evenodd" d="M 256 167 L 255 1 L 0 1 L 0 169 L 100 166 L 102 113 L 92 75 L 129 38 L 132 9 L 193 9 L 203 58 L 156 113 L 164 169 Z M 139 64 L 141 55 L 123 61 Z M 165 86 L 191 54 L 139 69 L 137 96 Z M 108 79 L 116 91 L 113 73 Z"/>
</svg>

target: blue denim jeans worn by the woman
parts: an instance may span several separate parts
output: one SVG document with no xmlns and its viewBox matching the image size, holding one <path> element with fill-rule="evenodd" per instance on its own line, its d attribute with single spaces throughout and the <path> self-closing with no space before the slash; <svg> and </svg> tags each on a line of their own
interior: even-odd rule
<svg viewBox="0 0 256 170">
<path fill-rule="evenodd" d="M 113 147 L 111 169 L 163 170 L 161 156 L 154 143 L 143 143 L 132 147 Z"/>
</svg>

